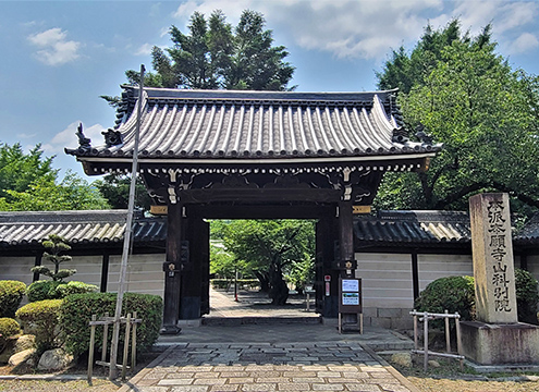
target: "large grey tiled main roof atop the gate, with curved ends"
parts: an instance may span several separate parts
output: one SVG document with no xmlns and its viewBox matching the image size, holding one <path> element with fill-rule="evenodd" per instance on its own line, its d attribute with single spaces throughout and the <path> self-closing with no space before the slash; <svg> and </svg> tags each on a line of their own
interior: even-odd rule
<svg viewBox="0 0 539 392">
<path fill-rule="evenodd" d="M 124 87 L 114 142 L 66 149 L 77 157 L 131 157 L 136 87 Z M 411 142 L 395 91 L 273 93 L 147 88 L 139 156 L 170 159 L 362 157 L 436 152 Z M 115 144 L 118 142 L 118 144 Z"/>
</svg>

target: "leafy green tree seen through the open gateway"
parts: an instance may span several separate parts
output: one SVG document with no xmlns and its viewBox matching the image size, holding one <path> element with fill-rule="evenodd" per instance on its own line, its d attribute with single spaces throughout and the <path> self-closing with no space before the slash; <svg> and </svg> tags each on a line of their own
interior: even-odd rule
<svg viewBox="0 0 539 392">
<path fill-rule="evenodd" d="M 283 273 L 315 253 L 311 221 L 236 220 L 223 225 L 223 244 L 245 262 L 269 291 L 273 305 L 284 305 L 289 289 Z"/>
</svg>

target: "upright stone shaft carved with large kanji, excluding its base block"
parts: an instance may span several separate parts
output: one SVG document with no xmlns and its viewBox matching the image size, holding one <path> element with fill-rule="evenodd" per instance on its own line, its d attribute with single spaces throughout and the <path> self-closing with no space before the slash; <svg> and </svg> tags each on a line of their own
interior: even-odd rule
<svg viewBox="0 0 539 392">
<path fill-rule="evenodd" d="M 469 212 L 477 320 L 517 322 L 509 196 L 473 196 Z"/>
</svg>

